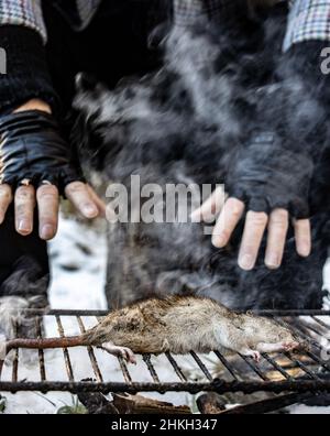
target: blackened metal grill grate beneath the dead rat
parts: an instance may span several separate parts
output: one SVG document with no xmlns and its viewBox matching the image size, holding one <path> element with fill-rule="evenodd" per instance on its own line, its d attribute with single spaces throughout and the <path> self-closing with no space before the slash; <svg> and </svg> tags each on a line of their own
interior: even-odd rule
<svg viewBox="0 0 330 436">
<path fill-rule="evenodd" d="M 35 323 L 35 336 L 50 336 L 45 334 L 43 326 L 54 325 L 57 336 L 73 336 L 73 331 L 67 331 L 66 325 L 76 323 L 78 331 L 84 333 L 87 328 L 101 320 L 108 313 L 103 310 L 30 310 L 29 316 L 33 316 Z M 324 346 L 327 339 L 330 341 L 330 310 L 262 310 L 258 315 L 273 317 L 277 323 L 289 326 L 290 329 L 308 339 L 311 348 L 304 353 L 275 353 L 262 355 L 262 362 L 256 364 L 251 358 L 241 355 L 227 356 L 219 351 L 213 351 L 209 356 L 199 356 L 194 350 L 185 357 L 185 362 L 189 363 L 189 371 L 183 367 L 183 357 L 166 353 L 161 357 L 141 356 L 139 358 L 138 373 L 143 374 L 142 381 L 136 380 L 132 374 L 133 369 L 123 359 L 114 358 L 101 350 L 86 347 L 86 359 L 84 368 L 89 368 L 87 373 L 81 373 L 81 357 L 78 361 L 73 356 L 74 349 L 57 350 L 61 352 L 59 359 L 63 364 L 62 381 L 54 380 L 48 374 L 47 366 L 52 360 L 51 352 L 36 350 L 37 378 L 21 378 L 21 370 L 24 367 L 21 355 L 23 350 L 13 350 L 13 357 L 9 363 L 0 366 L 0 391 L 16 393 L 19 391 L 65 391 L 74 394 L 99 392 L 108 393 L 143 393 L 143 392 L 187 392 L 197 394 L 200 392 L 216 392 L 219 394 L 241 392 L 252 394 L 256 392 L 267 392 L 277 397 L 284 393 L 287 397 L 296 394 L 320 394 L 330 393 L 330 353 L 327 355 Z M 77 331 L 75 331 L 77 334 Z M 54 333 L 52 333 L 54 336 Z M 26 351 L 26 350 L 25 350 Z M 25 352 L 24 351 L 24 352 Z M 100 353 L 102 364 L 100 363 Z M 329 357 L 329 360 L 328 360 Z M 160 373 L 160 359 L 166 360 L 166 377 Z M 109 380 L 108 368 L 117 364 L 117 380 Z M 210 364 L 211 362 L 211 364 Z M 34 367 L 35 368 L 35 367 Z M 217 370 L 215 370 L 217 368 Z M 77 372 L 79 375 L 77 375 Z M 136 370 L 134 369 L 136 373 Z M 35 371 L 34 371 L 35 374 Z M 56 375 L 58 377 L 58 375 Z M 81 381 L 89 379 L 89 381 Z M 139 378 L 138 378 L 139 379 Z"/>
</svg>

